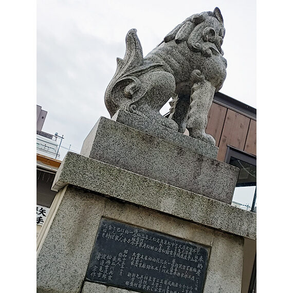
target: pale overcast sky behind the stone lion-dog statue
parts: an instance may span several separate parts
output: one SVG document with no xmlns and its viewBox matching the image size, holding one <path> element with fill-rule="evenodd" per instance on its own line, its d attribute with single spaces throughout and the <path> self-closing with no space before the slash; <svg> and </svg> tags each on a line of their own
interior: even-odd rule
<svg viewBox="0 0 293 293">
<path fill-rule="evenodd" d="M 145 56 L 188 16 L 216 6 L 224 17 L 228 62 L 220 91 L 256 107 L 255 1 L 39 0 L 36 4 L 36 99 L 48 112 L 43 131 L 64 135 L 63 147 L 71 144 L 71 150 L 79 152 L 99 117 L 109 117 L 104 92 L 116 70 L 116 57 L 124 57 L 127 31 L 137 29 Z"/>
</svg>

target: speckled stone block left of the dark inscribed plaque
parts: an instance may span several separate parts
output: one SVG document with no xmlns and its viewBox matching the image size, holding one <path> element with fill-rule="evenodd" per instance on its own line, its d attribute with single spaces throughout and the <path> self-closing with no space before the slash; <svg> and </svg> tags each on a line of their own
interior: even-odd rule
<svg viewBox="0 0 293 293">
<path fill-rule="evenodd" d="M 67 189 L 38 255 L 38 293 L 81 291 L 103 209 L 103 197 Z"/>
</svg>

